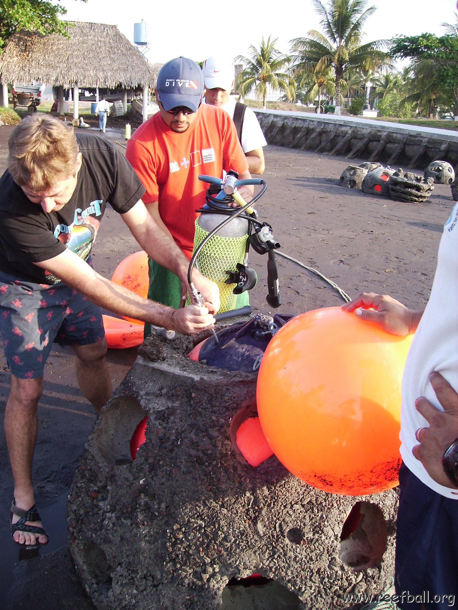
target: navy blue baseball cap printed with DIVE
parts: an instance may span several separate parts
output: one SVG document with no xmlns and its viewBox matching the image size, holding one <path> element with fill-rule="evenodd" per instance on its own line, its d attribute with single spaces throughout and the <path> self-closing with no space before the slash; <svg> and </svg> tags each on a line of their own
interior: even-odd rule
<svg viewBox="0 0 458 610">
<path fill-rule="evenodd" d="M 177 57 L 164 63 L 156 88 L 164 110 L 186 106 L 197 112 L 203 94 L 203 74 L 198 63 Z"/>
</svg>

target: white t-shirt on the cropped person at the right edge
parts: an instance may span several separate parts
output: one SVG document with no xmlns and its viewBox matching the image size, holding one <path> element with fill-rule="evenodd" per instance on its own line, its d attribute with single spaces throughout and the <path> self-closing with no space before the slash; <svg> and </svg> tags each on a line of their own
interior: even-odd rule
<svg viewBox="0 0 458 610">
<path fill-rule="evenodd" d="M 429 426 L 415 409 L 424 396 L 443 411 L 429 375 L 438 371 L 458 391 L 458 203 L 444 225 L 431 296 L 413 337 L 402 377 L 401 456 L 422 483 L 446 498 L 458 500 L 458 490 L 439 485 L 412 455 L 415 431 Z"/>
</svg>

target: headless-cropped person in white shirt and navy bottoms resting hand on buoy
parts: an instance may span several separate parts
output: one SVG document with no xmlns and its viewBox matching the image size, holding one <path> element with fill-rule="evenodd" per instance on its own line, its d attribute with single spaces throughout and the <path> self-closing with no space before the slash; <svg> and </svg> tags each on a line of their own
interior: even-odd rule
<svg viewBox="0 0 458 610">
<path fill-rule="evenodd" d="M 415 332 L 402 375 L 396 596 L 391 596 L 401 610 L 445 610 L 458 600 L 457 301 L 458 203 L 444 226 L 424 310 L 375 293 L 342 306 L 391 334 Z"/>
</svg>

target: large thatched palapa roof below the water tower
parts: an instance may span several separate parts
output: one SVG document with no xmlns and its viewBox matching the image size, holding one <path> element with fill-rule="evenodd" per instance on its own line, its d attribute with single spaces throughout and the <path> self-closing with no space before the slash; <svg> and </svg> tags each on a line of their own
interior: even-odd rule
<svg viewBox="0 0 458 610">
<path fill-rule="evenodd" d="M 3 83 L 124 88 L 153 87 L 157 68 L 117 28 L 104 23 L 69 22 L 69 37 L 16 32 L 0 57 Z"/>
</svg>

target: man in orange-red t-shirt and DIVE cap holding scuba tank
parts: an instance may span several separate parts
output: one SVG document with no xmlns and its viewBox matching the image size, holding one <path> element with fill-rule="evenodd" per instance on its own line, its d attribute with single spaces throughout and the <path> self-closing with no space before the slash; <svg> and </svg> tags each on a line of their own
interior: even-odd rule
<svg viewBox="0 0 458 610">
<path fill-rule="evenodd" d="M 239 179 L 251 176 L 231 118 L 217 107 L 200 105 L 205 90 L 197 63 L 185 57 L 165 63 L 154 93 L 159 112 L 136 129 L 126 158 L 146 188 L 142 201 L 148 212 L 191 259 L 195 210 L 205 203 L 208 187 L 199 174 L 222 177 L 223 170 L 232 169 Z M 247 201 L 253 194 L 252 187 L 239 192 Z M 148 265 L 148 298 L 178 309 L 187 267 L 178 277 L 153 260 Z M 219 306 L 217 296 L 203 297 Z"/>
</svg>

